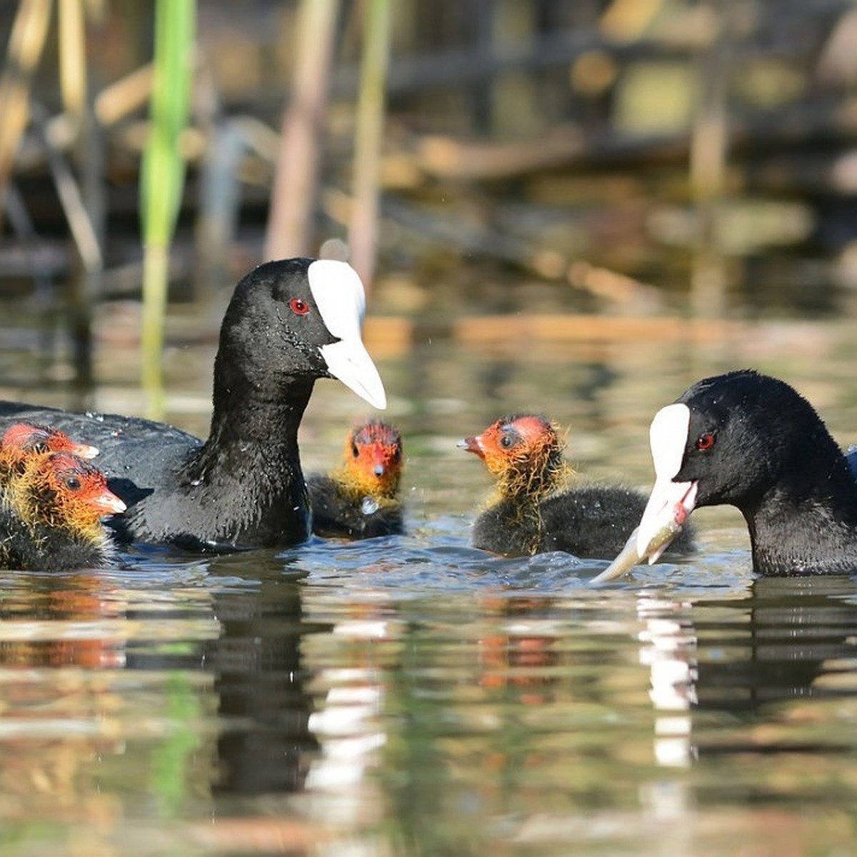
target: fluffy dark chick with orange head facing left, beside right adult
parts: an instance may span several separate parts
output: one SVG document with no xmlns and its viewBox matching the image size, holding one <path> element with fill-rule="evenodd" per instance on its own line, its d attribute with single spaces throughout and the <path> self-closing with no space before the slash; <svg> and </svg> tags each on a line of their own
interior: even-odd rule
<svg viewBox="0 0 857 857">
<path fill-rule="evenodd" d="M 497 479 L 494 499 L 476 518 L 472 543 L 506 556 L 552 550 L 607 557 L 626 542 L 645 508 L 644 494 L 619 485 L 564 488 L 571 468 L 556 427 L 539 414 L 503 417 L 459 443 Z M 676 550 L 692 549 L 686 532 Z"/>
</svg>

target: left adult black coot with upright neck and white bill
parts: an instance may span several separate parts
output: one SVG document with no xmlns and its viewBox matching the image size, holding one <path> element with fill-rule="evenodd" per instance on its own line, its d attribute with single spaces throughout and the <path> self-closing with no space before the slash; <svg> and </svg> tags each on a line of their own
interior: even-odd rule
<svg viewBox="0 0 857 857">
<path fill-rule="evenodd" d="M 297 428 L 317 378 L 338 378 L 376 407 L 386 399 L 363 347 L 365 298 L 345 262 L 291 259 L 235 288 L 214 361 L 203 443 L 135 417 L 0 402 L 0 428 L 48 423 L 99 447 L 99 467 L 129 506 L 123 540 L 194 550 L 282 547 L 309 536 Z"/>
</svg>

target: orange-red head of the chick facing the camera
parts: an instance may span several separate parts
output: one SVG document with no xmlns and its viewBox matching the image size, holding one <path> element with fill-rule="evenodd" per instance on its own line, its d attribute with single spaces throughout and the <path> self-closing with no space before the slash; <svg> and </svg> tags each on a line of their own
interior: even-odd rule
<svg viewBox="0 0 857 857">
<path fill-rule="evenodd" d="M 345 441 L 346 484 L 376 500 L 392 500 L 402 476 L 402 435 L 398 428 L 372 420 L 354 428 Z"/>
</svg>

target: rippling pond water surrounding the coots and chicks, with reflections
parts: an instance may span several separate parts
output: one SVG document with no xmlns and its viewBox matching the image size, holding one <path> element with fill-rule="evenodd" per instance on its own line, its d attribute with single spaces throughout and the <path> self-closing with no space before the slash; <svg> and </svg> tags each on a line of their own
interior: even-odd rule
<svg viewBox="0 0 857 857">
<path fill-rule="evenodd" d="M 4 857 L 852 853 L 857 579 L 754 578 L 730 510 L 694 516 L 698 555 L 601 589 L 606 561 L 492 557 L 468 546 L 488 477 L 454 446 L 537 408 L 581 473 L 644 486 L 657 407 L 736 365 L 854 441 L 848 326 L 520 351 L 381 361 L 405 536 L 0 572 Z M 203 416 L 171 416 L 204 431 L 184 383 Z M 307 470 L 364 416 L 320 384 Z"/>
</svg>

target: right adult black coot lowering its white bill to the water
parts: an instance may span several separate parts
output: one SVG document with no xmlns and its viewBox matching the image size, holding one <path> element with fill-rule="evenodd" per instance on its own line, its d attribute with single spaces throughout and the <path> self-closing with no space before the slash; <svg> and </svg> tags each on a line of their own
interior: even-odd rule
<svg viewBox="0 0 857 857">
<path fill-rule="evenodd" d="M 698 381 L 650 428 L 655 486 L 639 559 L 657 559 L 664 522 L 698 506 L 736 506 L 764 575 L 857 571 L 857 482 L 812 405 L 751 369 Z"/>
</svg>

